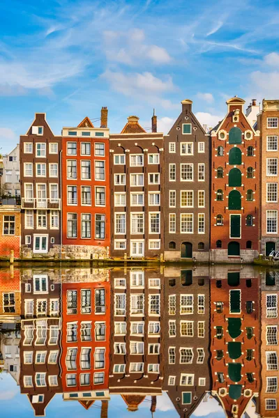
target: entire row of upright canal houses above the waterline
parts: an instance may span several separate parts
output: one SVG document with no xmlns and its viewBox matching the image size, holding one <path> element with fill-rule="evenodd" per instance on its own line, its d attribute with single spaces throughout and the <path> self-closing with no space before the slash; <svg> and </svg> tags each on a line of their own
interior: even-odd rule
<svg viewBox="0 0 279 418">
<path fill-rule="evenodd" d="M 86 117 L 61 136 L 36 114 L 20 137 L 22 256 L 248 262 L 278 249 L 279 101 L 244 104 L 227 100 L 206 132 L 183 100 L 165 136 L 155 114 L 151 132 L 129 116 L 112 134 L 103 107 L 100 127 Z M 19 253 L 18 209 L 0 208 L 3 254 Z"/>
</svg>

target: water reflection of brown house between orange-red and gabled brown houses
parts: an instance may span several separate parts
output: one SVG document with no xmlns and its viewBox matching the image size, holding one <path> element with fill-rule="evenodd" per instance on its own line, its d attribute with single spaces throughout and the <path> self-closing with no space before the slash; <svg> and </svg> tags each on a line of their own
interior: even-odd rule
<svg viewBox="0 0 279 418">
<path fill-rule="evenodd" d="M 110 394 L 130 411 L 162 394 L 163 281 L 160 269 L 111 271 Z"/>
</svg>

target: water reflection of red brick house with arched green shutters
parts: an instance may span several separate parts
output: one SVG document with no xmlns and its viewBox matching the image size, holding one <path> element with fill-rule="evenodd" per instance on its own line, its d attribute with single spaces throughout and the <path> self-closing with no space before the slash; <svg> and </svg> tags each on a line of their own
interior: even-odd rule
<svg viewBox="0 0 279 418">
<path fill-rule="evenodd" d="M 211 269 L 211 393 L 241 418 L 260 389 L 259 277 L 248 266 L 224 272 Z"/>
</svg>

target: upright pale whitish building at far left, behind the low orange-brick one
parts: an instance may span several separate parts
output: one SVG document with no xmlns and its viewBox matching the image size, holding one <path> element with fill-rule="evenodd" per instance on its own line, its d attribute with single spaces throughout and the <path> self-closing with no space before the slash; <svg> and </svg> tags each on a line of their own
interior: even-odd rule
<svg viewBox="0 0 279 418">
<path fill-rule="evenodd" d="M 3 155 L 3 196 L 20 197 L 20 144 Z"/>
</svg>

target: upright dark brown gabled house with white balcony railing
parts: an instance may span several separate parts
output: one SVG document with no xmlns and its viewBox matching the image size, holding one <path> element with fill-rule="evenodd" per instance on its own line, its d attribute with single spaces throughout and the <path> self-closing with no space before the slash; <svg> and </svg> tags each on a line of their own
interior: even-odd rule
<svg viewBox="0 0 279 418">
<path fill-rule="evenodd" d="M 20 137 L 22 197 L 22 256 L 59 256 L 61 243 L 61 137 L 56 137 L 45 114 L 35 114 L 27 134 Z"/>
</svg>

